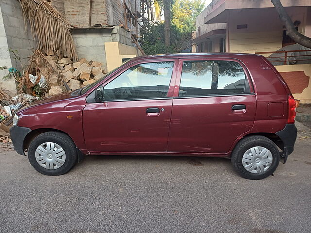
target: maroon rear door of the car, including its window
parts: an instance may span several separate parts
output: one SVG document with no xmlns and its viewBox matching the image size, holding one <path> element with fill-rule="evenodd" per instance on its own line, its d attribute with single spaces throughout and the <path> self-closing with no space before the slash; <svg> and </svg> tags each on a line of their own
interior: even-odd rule
<svg viewBox="0 0 311 233">
<path fill-rule="evenodd" d="M 180 60 L 168 151 L 225 154 L 254 123 L 256 97 L 236 60 Z"/>
</svg>

